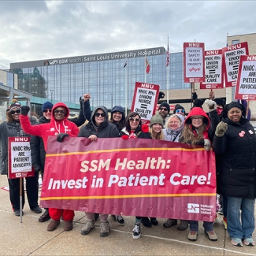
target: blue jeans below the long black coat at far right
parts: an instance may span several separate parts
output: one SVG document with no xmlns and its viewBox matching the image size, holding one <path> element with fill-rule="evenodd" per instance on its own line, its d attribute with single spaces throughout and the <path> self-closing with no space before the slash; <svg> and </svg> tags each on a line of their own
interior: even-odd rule
<svg viewBox="0 0 256 256">
<path fill-rule="evenodd" d="M 255 228 L 254 199 L 228 196 L 227 218 L 228 234 L 231 238 L 245 239 L 252 237 Z M 241 221 L 240 221 L 241 210 Z"/>
</svg>

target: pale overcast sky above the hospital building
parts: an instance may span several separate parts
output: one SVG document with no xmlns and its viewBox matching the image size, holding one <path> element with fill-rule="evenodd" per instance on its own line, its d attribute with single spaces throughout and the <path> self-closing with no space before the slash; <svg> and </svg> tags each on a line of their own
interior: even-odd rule
<svg viewBox="0 0 256 256">
<path fill-rule="evenodd" d="M 0 1 L 0 69 L 121 50 L 205 43 L 256 32 L 256 1 Z"/>
</svg>

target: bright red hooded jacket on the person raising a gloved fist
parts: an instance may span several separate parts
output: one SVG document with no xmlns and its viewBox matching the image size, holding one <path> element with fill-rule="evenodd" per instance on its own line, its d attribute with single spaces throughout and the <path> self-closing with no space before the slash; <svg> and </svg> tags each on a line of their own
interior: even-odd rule
<svg viewBox="0 0 256 256">
<path fill-rule="evenodd" d="M 66 116 L 62 121 L 56 121 L 54 119 L 54 109 L 57 109 L 59 106 L 62 106 L 66 109 Z M 20 124 L 24 132 L 40 136 L 43 138 L 44 148 L 47 150 L 47 139 L 50 135 L 57 136 L 59 133 L 68 133 L 70 137 L 76 137 L 79 133 L 79 128 L 76 124 L 69 121 L 69 108 L 63 102 L 58 102 L 54 105 L 52 109 L 52 117 L 50 123 L 47 124 L 37 124 L 32 125 L 28 119 L 28 116 L 20 114 Z"/>
</svg>

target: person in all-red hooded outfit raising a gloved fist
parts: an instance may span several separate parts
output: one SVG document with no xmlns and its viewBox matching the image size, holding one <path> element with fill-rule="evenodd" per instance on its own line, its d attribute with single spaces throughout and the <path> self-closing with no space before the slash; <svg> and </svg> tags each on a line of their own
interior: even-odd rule
<svg viewBox="0 0 256 256">
<path fill-rule="evenodd" d="M 46 151 L 47 139 L 50 135 L 57 136 L 58 142 L 62 142 L 65 136 L 76 137 L 79 133 L 79 128 L 77 128 L 76 124 L 68 120 L 69 108 L 63 102 L 58 102 L 53 106 L 52 112 L 54 113 L 54 117 L 50 119 L 50 123 L 31 125 L 28 121 L 29 110 L 29 106 L 21 106 L 21 127 L 24 129 L 24 132 L 27 132 L 28 134 L 42 137 Z M 49 213 L 52 220 L 47 226 L 47 231 L 54 231 L 58 227 L 61 215 L 65 221 L 64 230 L 72 230 L 72 221 L 75 216 L 73 210 L 49 208 Z"/>
</svg>

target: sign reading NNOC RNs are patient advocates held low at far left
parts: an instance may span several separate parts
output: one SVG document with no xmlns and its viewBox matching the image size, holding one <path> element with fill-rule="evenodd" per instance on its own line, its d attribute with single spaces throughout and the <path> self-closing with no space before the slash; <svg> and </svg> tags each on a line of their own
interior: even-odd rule
<svg viewBox="0 0 256 256">
<path fill-rule="evenodd" d="M 8 178 L 35 176 L 30 137 L 8 137 Z"/>
</svg>

